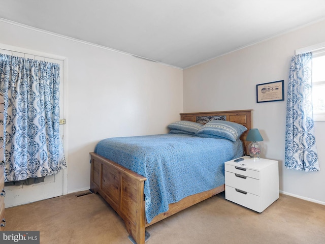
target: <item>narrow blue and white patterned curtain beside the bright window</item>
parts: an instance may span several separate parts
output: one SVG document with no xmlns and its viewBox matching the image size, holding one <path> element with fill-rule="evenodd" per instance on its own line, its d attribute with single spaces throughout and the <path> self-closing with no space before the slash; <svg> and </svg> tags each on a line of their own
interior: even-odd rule
<svg viewBox="0 0 325 244">
<path fill-rule="evenodd" d="M 318 171 L 312 111 L 312 53 L 294 56 L 288 82 L 285 130 L 285 166 Z"/>
</svg>

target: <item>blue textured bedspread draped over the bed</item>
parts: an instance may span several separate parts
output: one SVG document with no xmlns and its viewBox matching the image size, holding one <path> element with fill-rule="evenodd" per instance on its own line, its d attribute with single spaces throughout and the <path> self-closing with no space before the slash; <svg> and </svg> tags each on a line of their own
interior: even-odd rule
<svg viewBox="0 0 325 244">
<path fill-rule="evenodd" d="M 224 162 L 242 152 L 240 140 L 184 134 L 108 138 L 95 148 L 96 154 L 147 177 L 148 223 L 168 204 L 224 184 Z"/>
</svg>

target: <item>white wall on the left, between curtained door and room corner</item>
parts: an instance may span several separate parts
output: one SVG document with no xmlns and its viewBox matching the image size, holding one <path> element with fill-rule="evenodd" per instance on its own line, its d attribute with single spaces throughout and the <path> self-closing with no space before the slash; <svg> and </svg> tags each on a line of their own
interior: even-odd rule
<svg viewBox="0 0 325 244">
<path fill-rule="evenodd" d="M 0 43 L 68 58 L 68 192 L 89 189 L 89 152 L 104 138 L 166 133 L 183 112 L 182 70 L 0 21 Z"/>
</svg>

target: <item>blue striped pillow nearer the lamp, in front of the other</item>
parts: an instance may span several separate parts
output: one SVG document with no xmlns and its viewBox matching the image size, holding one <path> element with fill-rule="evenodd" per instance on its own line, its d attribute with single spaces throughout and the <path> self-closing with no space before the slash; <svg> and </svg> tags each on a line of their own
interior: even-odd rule
<svg viewBox="0 0 325 244">
<path fill-rule="evenodd" d="M 196 133 L 196 136 L 209 134 L 236 141 L 245 131 L 247 131 L 247 128 L 240 124 L 226 120 L 212 120 L 205 124 L 202 129 Z"/>
</svg>

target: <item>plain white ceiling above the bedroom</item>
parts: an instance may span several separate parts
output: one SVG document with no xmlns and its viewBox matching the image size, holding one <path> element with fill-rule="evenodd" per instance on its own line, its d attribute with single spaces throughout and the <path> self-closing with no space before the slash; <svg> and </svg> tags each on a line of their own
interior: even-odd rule
<svg viewBox="0 0 325 244">
<path fill-rule="evenodd" d="M 325 18 L 324 0 L 0 0 L 0 18 L 187 68 Z"/>
</svg>

